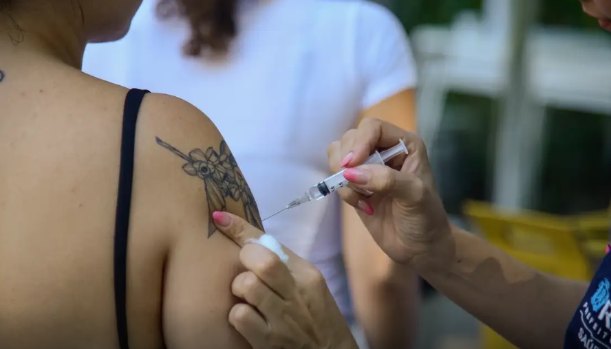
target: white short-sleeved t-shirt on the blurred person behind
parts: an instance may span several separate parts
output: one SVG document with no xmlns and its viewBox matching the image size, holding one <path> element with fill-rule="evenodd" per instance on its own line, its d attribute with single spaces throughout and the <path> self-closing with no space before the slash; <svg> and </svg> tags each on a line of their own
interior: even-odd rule
<svg viewBox="0 0 611 349">
<path fill-rule="evenodd" d="M 213 120 L 268 216 L 330 175 L 326 150 L 361 111 L 416 85 L 403 27 L 362 0 L 245 0 L 222 62 L 182 55 L 180 19 L 160 21 L 144 0 L 129 34 L 89 45 L 83 70 L 126 87 L 187 100 Z M 283 212 L 266 232 L 321 271 L 352 320 L 341 254 L 339 200 Z M 367 258 L 367 256 L 363 256 Z"/>
</svg>

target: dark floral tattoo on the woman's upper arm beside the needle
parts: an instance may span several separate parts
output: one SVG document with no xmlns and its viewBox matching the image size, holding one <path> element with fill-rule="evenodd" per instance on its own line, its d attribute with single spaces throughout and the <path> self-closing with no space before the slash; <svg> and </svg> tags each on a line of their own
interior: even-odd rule
<svg viewBox="0 0 611 349">
<path fill-rule="evenodd" d="M 208 238 L 215 232 L 212 213 L 225 211 L 226 199 L 238 201 L 244 207 L 244 218 L 248 223 L 263 230 L 259 208 L 255 203 L 253 192 L 248 188 L 244 175 L 237 167 L 235 157 L 229 151 L 225 141 L 222 141 L 219 150 L 209 147 L 206 151 L 195 148 L 188 155 L 174 148 L 170 144 L 156 137 L 157 144 L 171 151 L 184 161 L 182 170 L 187 175 L 198 177 L 204 181 L 204 189 L 208 196 Z"/>
</svg>

